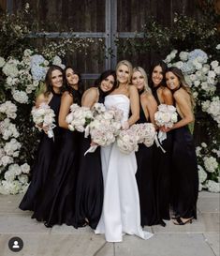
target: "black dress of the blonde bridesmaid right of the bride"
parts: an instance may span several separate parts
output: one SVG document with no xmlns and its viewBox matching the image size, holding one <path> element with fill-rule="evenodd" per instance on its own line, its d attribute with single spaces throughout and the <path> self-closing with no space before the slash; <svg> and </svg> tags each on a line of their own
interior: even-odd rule
<svg viewBox="0 0 220 256">
<path fill-rule="evenodd" d="M 148 123 L 141 104 L 137 124 L 140 123 Z M 136 158 L 138 164 L 136 179 L 139 188 L 140 224 L 142 227 L 152 226 L 158 223 L 154 193 L 153 146 L 147 147 L 140 143 Z"/>
</svg>

